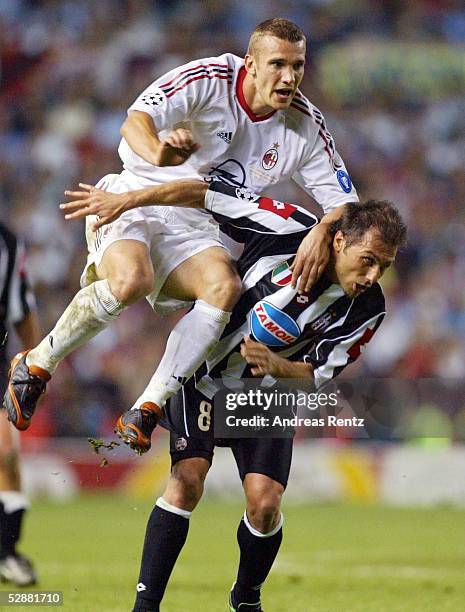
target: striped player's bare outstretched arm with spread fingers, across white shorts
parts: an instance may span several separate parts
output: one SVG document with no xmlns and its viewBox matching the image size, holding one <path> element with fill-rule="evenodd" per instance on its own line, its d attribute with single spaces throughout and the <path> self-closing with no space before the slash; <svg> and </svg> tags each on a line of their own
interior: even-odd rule
<svg viewBox="0 0 465 612">
<path fill-rule="evenodd" d="M 71 202 L 60 204 L 65 219 L 97 215 L 92 229 L 112 223 L 124 212 L 140 206 L 185 206 L 203 208 L 208 185 L 203 181 L 173 181 L 125 193 L 110 193 L 93 185 L 79 183 L 81 191 L 65 191 Z"/>
</svg>

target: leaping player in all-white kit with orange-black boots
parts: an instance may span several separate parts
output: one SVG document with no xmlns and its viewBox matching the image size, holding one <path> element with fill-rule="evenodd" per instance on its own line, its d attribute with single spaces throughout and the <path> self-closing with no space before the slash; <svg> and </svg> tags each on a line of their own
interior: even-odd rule
<svg viewBox="0 0 465 612">
<path fill-rule="evenodd" d="M 300 277 L 302 290 L 312 286 L 328 261 L 328 228 L 338 207 L 358 198 L 322 114 L 298 90 L 305 45 L 298 26 L 271 19 L 253 32 L 245 60 L 226 53 L 157 79 L 129 108 L 121 128 L 123 172 L 97 186 L 121 193 L 202 178 L 263 192 L 293 179 L 326 213 L 294 262 L 294 283 Z M 177 307 L 194 302 L 170 334 L 146 389 L 152 400 L 142 395 L 133 407 L 154 419 L 229 321 L 241 283 L 208 215 L 145 207 L 103 227 L 109 220 L 89 218 L 82 289 L 47 337 L 12 362 L 4 405 L 18 429 L 29 426 L 60 361 L 139 298 L 146 296 L 160 311 L 173 308 L 172 299 Z M 131 423 L 124 433 L 144 446 Z"/>
</svg>

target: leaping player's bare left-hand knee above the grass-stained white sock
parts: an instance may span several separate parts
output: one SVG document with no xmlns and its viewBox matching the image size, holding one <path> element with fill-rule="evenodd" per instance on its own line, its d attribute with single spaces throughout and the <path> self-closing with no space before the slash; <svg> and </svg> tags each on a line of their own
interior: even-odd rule
<svg viewBox="0 0 465 612">
<path fill-rule="evenodd" d="M 97 276 L 108 280 L 110 289 L 121 302 L 147 295 L 154 282 L 147 244 L 130 239 L 113 242 L 103 253 Z"/>
</svg>

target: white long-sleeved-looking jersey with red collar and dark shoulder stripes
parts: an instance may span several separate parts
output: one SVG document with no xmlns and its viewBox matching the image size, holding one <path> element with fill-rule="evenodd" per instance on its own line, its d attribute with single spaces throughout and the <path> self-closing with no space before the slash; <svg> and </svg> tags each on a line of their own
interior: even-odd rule
<svg viewBox="0 0 465 612">
<path fill-rule="evenodd" d="M 148 113 L 161 139 L 174 128 L 189 128 L 200 149 L 180 166 L 160 168 L 123 139 L 124 168 L 147 183 L 203 178 L 256 193 L 271 193 L 274 184 L 292 179 L 326 212 L 358 201 L 320 111 L 297 92 L 289 109 L 258 117 L 243 94 L 245 75 L 244 60 L 225 53 L 154 81 L 129 112 Z"/>
</svg>

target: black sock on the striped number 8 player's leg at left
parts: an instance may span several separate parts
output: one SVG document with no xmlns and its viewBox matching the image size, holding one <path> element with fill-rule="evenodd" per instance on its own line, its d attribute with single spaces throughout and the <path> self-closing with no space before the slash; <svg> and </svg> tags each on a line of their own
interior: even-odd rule
<svg viewBox="0 0 465 612">
<path fill-rule="evenodd" d="M 152 510 L 145 532 L 138 593 L 133 612 L 158 612 L 188 531 L 189 519 L 159 506 Z"/>
</svg>

